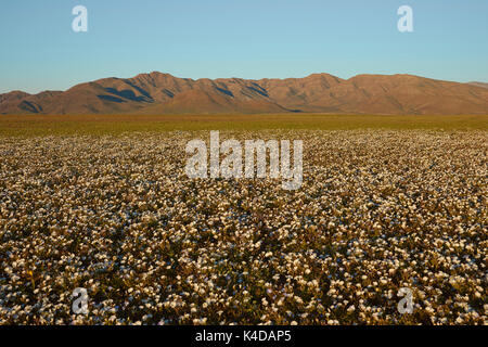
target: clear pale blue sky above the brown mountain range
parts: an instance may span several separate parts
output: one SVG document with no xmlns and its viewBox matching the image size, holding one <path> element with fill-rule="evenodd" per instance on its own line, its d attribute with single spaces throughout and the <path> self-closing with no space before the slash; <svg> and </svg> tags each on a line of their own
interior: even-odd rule
<svg viewBox="0 0 488 347">
<path fill-rule="evenodd" d="M 88 9 L 88 33 L 72 9 Z M 414 33 L 397 30 L 413 8 Z M 1 0 L 0 93 L 159 70 L 488 81 L 487 0 Z"/>
</svg>

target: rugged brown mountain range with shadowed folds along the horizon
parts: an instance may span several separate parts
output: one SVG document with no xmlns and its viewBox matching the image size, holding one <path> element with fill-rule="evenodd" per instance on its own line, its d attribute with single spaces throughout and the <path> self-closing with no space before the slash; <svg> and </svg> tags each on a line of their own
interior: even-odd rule
<svg viewBox="0 0 488 347">
<path fill-rule="evenodd" d="M 0 114 L 488 114 L 488 88 L 411 75 L 328 74 L 247 80 L 141 74 L 77 85 L 64 92 L 0 94 Z"/>
</svg>

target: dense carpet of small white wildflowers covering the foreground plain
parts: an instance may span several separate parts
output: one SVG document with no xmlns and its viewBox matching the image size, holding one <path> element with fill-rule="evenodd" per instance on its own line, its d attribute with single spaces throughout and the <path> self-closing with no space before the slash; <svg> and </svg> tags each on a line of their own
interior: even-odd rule
<svg viewBox="0 0 488 347">
<path fill-rule="evenodd" d="M 0 324 L 488 324 L 486 130 L 226 137 L 303 140 L 301 188 L 189 179 L 203 130 L 1 137 Z"/>
</svg>

